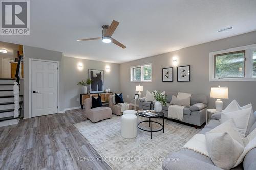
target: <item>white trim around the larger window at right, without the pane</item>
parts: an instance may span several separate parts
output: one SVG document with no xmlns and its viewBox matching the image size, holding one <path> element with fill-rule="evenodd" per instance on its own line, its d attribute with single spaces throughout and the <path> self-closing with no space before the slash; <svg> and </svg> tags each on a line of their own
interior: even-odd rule
<svg viewBox="0 0 256 170">
<path fill-rule="evenodd" d="M 256 81 L 256 77 L 252 76 L 252 57 L 253 51 L 256 49 L 256 44 L 247 45 L 247 46 L 240 46 L 236 48 L 230 48 L 227 50 L 220 50 L 215 52 L 209 53 L 209 82 L 227 82 L 227 81 Z M 245 51 L 245 58 L 244 58 L 244 71 L 245 77 L 240 78 L 215 78 L 215 55 L 225 54 L 225 53 L 232 53 L 232 52 L 239 52 Z"/>
</svg>

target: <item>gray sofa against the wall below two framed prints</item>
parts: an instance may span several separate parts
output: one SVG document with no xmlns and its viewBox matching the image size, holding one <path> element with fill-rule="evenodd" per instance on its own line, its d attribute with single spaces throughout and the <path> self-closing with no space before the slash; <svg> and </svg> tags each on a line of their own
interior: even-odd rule
<svg viewBox="0 0 256 170">
<path fill-rule="evenodd" d="M 177 96 L 178 92 L 165 92 L 167 97 L 167 106 L 162 106 L 162 112 L 164 117 L 168 117 L 168 107 L 172 96 Z M 195 126 L 201 126 L 206 122 L 206 110 L 208 98 L 203 94 L 192 94 L 191 95 L 191 107 L 185 107 L 183 110 L 183 122 L 192 124 Z M 151 102 L 146 102 L 145 97 L 139 99 L 139 109 L 150 109 Z"/>
</svg>

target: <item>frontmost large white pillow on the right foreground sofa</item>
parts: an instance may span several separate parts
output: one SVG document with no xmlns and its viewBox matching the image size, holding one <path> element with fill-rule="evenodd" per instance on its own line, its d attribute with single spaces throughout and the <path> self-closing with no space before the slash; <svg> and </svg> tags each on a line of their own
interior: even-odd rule
<svg viewBox="0 0 256 170">
<path fill-rule="evenodd" d="M 243 145 L 234 140 L 227 132 L 206 132 L 206 147 L 215 166 L 231 169 L 244 151 Z"/>
</svg>

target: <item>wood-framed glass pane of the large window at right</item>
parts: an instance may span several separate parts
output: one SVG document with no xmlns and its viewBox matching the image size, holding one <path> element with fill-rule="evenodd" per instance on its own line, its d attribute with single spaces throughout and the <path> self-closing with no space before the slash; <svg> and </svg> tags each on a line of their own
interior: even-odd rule
<svg viewBox="0 0 256 170">
<path fill-rule="evenodd" d="M 239 78 L 245 77 L 245 50 L 217 54 L 214 56 L 214 78 Z"/>
</svg>

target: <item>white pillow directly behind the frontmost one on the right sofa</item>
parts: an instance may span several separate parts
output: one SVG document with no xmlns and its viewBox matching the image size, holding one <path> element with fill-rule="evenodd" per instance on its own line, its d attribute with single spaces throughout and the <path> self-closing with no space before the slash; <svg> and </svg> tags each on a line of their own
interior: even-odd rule
<svg viewBox="0 0 256 170">
<path fill-rule="evenodd" d="M 244 145 L 243 139 L 237 130 L 236 124 L 234 124 L 233 118 L 227 120 L 223 124 L 220 124 L 219 126 L 209 131 L 209 133 L 222 133 L 222 132 L 227 132 L 234 140 L 239 142 L 241 145 Z"/>
</svg>

